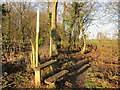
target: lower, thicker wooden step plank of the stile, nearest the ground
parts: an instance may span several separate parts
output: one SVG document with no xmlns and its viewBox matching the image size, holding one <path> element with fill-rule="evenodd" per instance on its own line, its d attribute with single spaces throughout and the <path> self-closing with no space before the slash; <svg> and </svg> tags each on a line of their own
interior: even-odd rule
<svg viewBox="0 0 120 90">
<path fill-rule="evenodd" d="M 52 84 L 55 83 L 55 81 L 57 79 L 59 79 L 60 77 L 62 77 L 63 75 L 67 74 L 69 71 L 68 70 L 62 70 L 59 73 L 56 73 L 55 75 L 53 75 L 52 77 L 49 77 L 47 79 L 45 79 L 45 83 L 46 84 Z"/>
</svg>

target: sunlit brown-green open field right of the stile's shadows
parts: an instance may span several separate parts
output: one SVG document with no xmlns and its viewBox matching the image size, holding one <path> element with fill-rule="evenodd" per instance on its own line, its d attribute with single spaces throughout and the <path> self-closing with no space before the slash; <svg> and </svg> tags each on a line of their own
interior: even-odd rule
<svg viewBox="0 0 120 90">
<path fill-rule="evenodd" d="M 88 41 L 95 45 L 97 40 Z M 120 76 L 117 63 L 119 59 L 118 41 L 101 41 L 96 43 L 96 52 L 90 53 L 94 61 L 87 71 L 85 87 L 87 88 L 119 88 Z M 119 63 L 119 62 L 118 62 Z"/>
</svg>

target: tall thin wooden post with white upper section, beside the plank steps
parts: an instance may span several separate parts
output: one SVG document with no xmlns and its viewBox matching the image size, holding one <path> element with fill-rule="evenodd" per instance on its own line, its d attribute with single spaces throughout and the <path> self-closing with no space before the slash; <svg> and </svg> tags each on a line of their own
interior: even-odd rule
<svg viewBox="0 0 120 90">
<path fill-rule="evenodd" d="M 39 39 L 39 10 L 37 10 L 37 24 L 36 24 L 36 65 L 38 67 L 38 39 Z M 35 70 L 35 85 L 41 86 L 40 70 Z"/>
</svg>

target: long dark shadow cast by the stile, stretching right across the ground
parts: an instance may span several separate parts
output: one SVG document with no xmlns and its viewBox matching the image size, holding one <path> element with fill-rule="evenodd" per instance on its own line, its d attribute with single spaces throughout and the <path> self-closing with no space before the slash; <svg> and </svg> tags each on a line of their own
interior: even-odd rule
<svg viewBox="0 0 120 90">
<path fill-rule="evenodd" d="M 70 87 L 70 88 L 80 88 L 78 83 L 76 83 L 75 81 L 77 80 L 77 77 L 79 75 L 84 73 L 90 67 L 89 62 L 90 61 L 87 60 L 78 65 L 64 68 L 63 70 L 69 70 L 69 73 L 67 75 L 64 75 L 62 80 L 60 80 L 60 81 L 59 81 L 59 79 L 57 80 L 57 82 L 56 82 L 57 88 L 66 87 L 65 86 L 66 81 L 72 83 L 72 87 Z M 87 66 L 85 66 L 85 65 L 87 65 Z M 61 70 L 62 69 L 50 72 L 48 75 L 44 76 L 43 78 L 45 79 L 50 76 L 53 76 L 54 74 L 60 72 Z"/>
</svg>

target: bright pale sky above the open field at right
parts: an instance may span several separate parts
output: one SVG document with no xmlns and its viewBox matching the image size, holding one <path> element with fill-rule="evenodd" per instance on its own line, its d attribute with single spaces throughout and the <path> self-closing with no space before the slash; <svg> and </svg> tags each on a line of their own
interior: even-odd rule
<svg viewBox="0 0 120 90">
<path fill-rule="evenodd" d="M 110 20 L 111 17 L 114 20 L 118 20 L 118 15 L 115 15 L 113 9 L 106 10 L 105 3 L 101 3 L 101 9 L 98 9 L 95 15 L 95 18 L 99 18 L 96 21 L 93 21 L 95 25 L 92 25 L 88 28 L 88 32 L 90 35 L 89 39 L 96 39 L 98 32 L 102 32 L 107 35 L 110 39 L 118 38 L 115 37 L 114 34 L 118 33 L 118 22 Z M 111 7 L 112 8 L 112 7 Z M 112 14 L 110 13 L 112 11 Z M 91 32 L 91 33 L 90 33 Z"/>
</svg>

